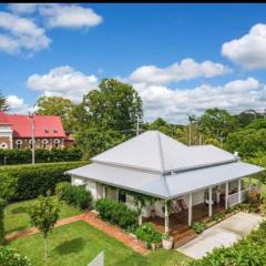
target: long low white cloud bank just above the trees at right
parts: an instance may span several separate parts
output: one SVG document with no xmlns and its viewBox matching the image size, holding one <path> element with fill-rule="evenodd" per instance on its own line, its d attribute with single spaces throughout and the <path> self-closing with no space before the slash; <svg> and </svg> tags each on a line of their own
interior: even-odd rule
<svg viewBox="0 0 266 266">
<path fill-rule="evenodd" d="M 184 123 L 186 114 L 201 114 L 208 108 L 226 109 L 233 113 L 246 109 L 263 111 L 266 86 L 253 78 L 235 80 L 224 85 L 203 84 L 193 89 L 134 83 L 144 105 L 145 119 L 163 116 L 171 122 Z"/>
</svg>

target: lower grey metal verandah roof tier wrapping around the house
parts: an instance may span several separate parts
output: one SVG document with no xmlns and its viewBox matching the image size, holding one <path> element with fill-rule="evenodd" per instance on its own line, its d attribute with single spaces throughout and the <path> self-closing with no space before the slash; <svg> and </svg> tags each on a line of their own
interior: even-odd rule
<svg viewBox="0 0 266 266">
<path fill-rule="evenodd" d="M 135 168 L 92 163 L 66 173 L 160 198 L 173 198 L 262 171 L 262 167 L 252 164 L 233 162 L 164 176 Z"/>
</svg>

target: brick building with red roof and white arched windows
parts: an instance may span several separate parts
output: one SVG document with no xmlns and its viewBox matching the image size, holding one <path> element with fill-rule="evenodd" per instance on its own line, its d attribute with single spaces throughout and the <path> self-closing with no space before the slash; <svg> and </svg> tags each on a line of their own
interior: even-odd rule
<svg viewBox="0 0 266 266">
<path fill-rule="evenodd" d="M 63 147 L 73 140 L 65 135 L 61 117 L 55 115 L 21 115 L 0 112 L 0 149 Z"/>
</svg>

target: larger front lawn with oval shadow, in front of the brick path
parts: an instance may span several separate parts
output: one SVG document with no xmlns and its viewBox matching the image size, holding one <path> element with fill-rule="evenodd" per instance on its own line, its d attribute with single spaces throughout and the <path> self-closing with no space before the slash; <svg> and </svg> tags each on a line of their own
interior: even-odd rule
<svg viewBox="0 0 266 266">
<path fill-rule="evenodd" d="M 142 256 L 105 233 L 79 221 L 57 227 L 49 239 L 49 258 L 43 259 L 40 234 L 21 237 L 9 243 L 28 256 L 34 266 L 88 266 L 102 250 L 105 266 L 177 266 L 187 258 L 176 250 L 163 250 Z"/>
</svg>

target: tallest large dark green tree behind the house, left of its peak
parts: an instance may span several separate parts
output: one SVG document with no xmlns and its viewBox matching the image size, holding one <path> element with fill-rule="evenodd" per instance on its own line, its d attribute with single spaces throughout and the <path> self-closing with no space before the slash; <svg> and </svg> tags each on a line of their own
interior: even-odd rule
<svg viewBox="0 0 266 266">
<path fill-rule="evenodd" d="M 75 109 L 76 141 L 90 156 L 135 134 L 142 100 L 129 84 L 104 79 Z"/>
</svg>

